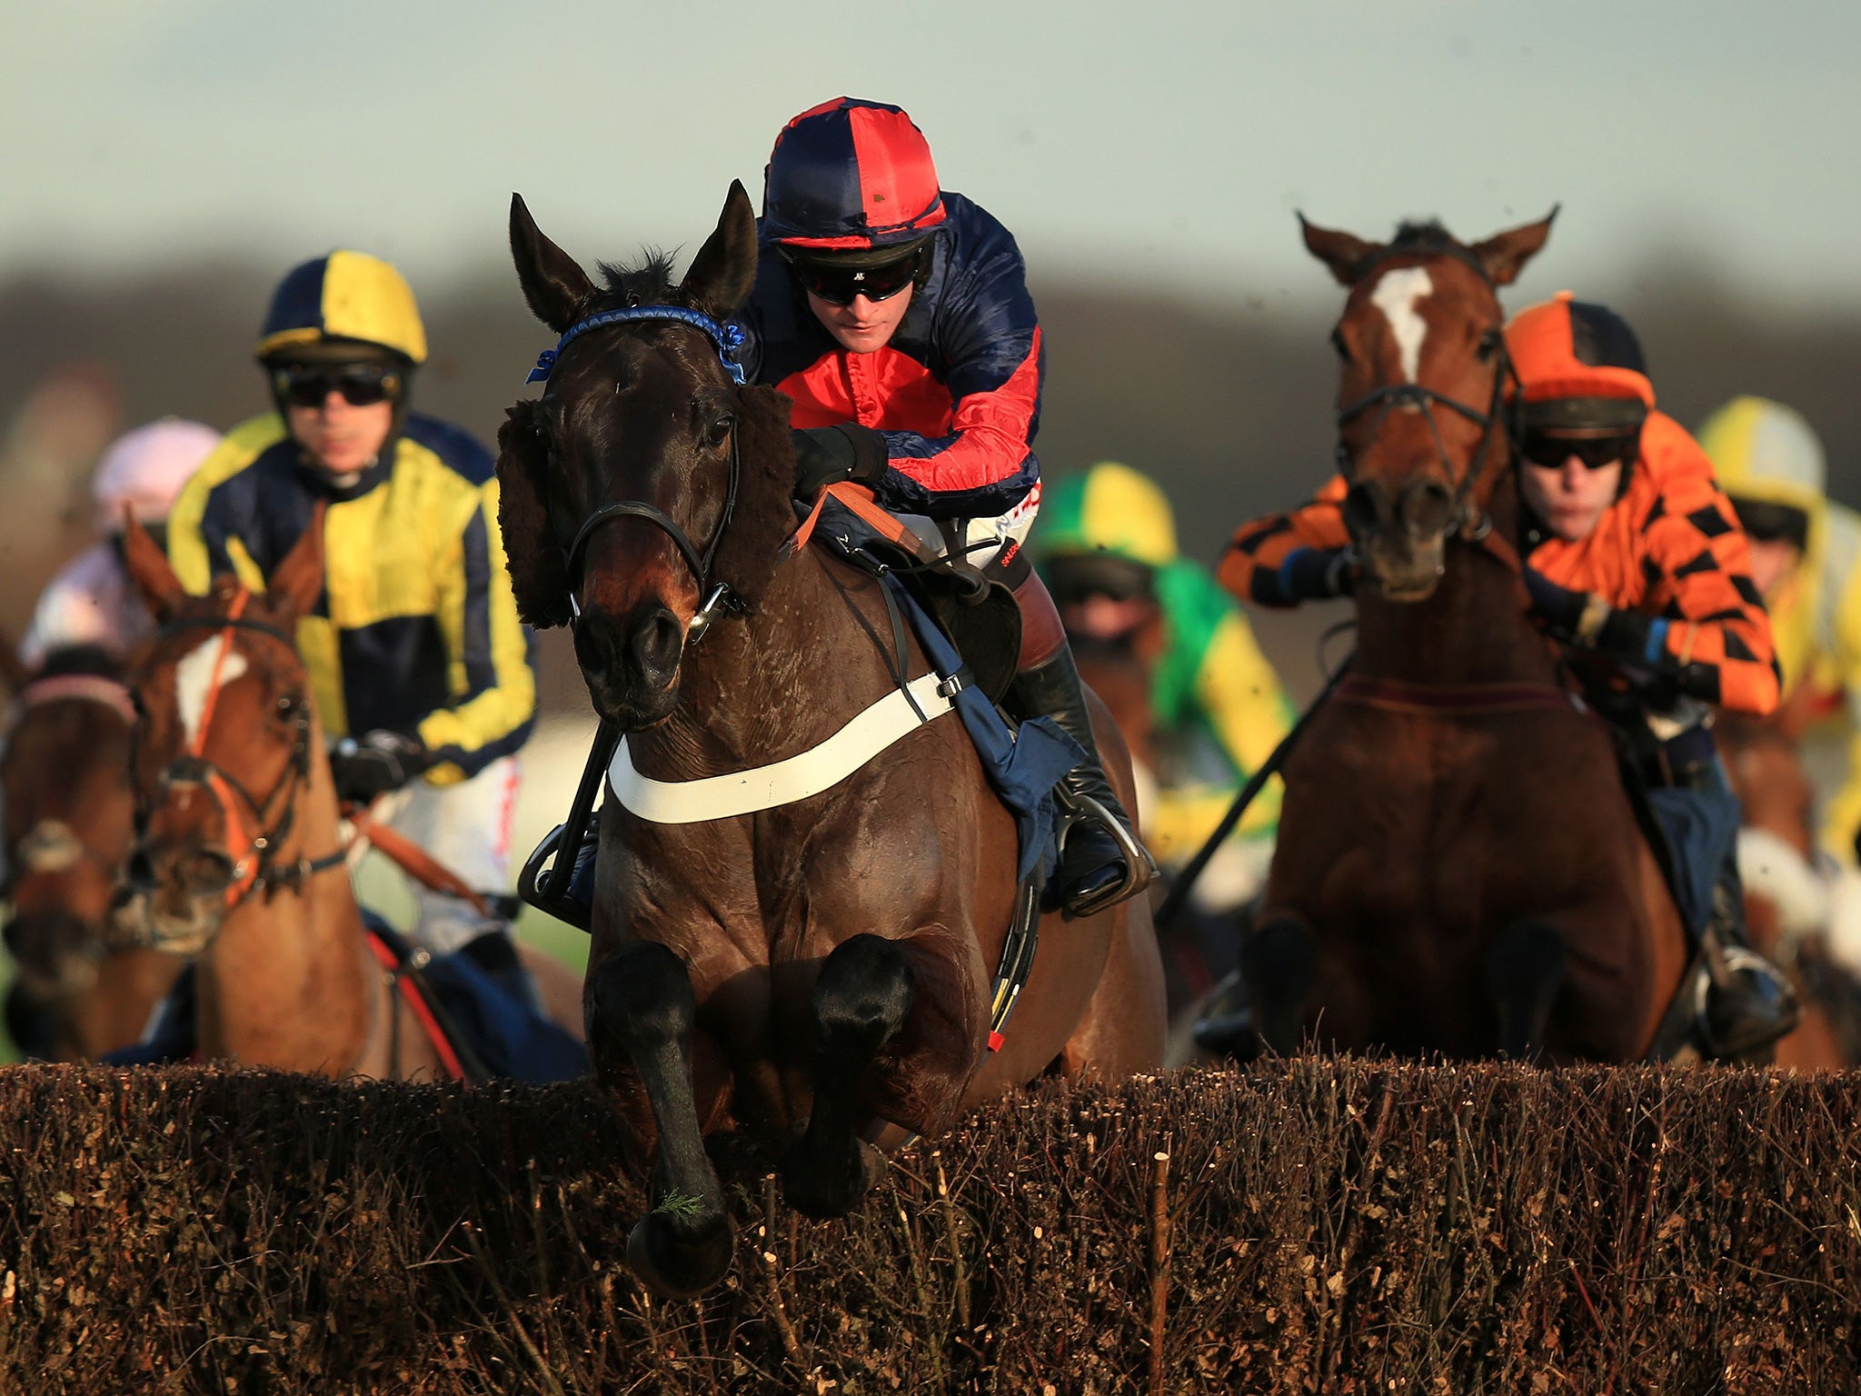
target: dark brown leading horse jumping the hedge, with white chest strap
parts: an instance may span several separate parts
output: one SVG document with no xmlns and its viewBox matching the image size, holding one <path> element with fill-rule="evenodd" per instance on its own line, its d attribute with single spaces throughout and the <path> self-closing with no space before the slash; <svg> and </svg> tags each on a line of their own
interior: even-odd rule
<svg viewBox="0 0 1861 1396">
<path fill-rule="evenodd" d="M 785 557 L 789 402 L 733 382 L 720 357 L 720 322 L 756 275 L 748 195 L 731 186 L 681 285 L 655 259 L 597 287 L 521 199 L 510 238 L 530 309 L 564 335 L 543 396 L 499 434 L 519 611 L 536 625 L 575 614 L 594 707 L 651 780 L 815 748 L 899 687 L 893 631 L 871 577 L 819 545 Z M 716 616 L 702 642 L 700 607 Z M 1128 800 L 1124 746 L 1098 718 Z M 990 1050 L 1014 901 L 1014 821 L 949 715 L 823 793 L 754 813 L 648 823 L 609 791 L 584 998 L 596 1072 L 653 1156 L 655 1206 L 629 1238 L 644 1282 L 692 1294 L 730 1268 L 713 1130 L 787 1141 L 789 1201 L 830 1217 L 871 1186 L 875 1145 L 942 1134 L 1048 1070 L 1118 1078 L 1161 1061 L 1139 903 L 1046 918 Z"/>
</svg>

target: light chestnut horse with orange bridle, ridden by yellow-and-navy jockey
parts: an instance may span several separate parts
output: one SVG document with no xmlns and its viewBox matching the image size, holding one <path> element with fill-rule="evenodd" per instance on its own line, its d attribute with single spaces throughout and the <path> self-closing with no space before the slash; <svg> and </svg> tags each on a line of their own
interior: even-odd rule
<svg viewBox="0 0 1861 1396">
<path fill-rule="evenodd" d="M 160 547 L 128 530 L 130 577 L 160 631 L 134 676 L 141 836 L 119 914 L 194 959 L 203 1057 L 439 1080 L 441 1052 L 363 934 L 298 659 L 298 618 L 324 586 L 322 538 L 318 506 L 266 592 L 216 577 L 188 596 Z M 573 979 L 564 966 L 555 975 Z"/>
</svg>

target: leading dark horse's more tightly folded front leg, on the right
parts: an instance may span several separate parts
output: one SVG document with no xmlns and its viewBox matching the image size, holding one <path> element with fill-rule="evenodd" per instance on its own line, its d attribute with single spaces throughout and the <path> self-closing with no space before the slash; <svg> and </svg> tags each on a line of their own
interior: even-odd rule
<svg viewBox="0 0 1861 1396">
<path fill-rule="evenodd" d="M 878 1050 L 904 1026 L 916 973 L 884 936 L 852 936 L 821 966 L 810 1018 L 813 1109 L 782 1161 L 789 1204 L 810 1217 L 843 1217 L 873 1186 L 878 1150 L 858 1139 L 860 1094 Z"/>
</svg>

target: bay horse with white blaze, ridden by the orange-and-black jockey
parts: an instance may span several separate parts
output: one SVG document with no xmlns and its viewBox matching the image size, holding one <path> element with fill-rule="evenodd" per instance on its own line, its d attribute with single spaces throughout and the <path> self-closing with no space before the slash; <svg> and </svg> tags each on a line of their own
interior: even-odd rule
<svg viewBox="0 0 1861 1396">
<path fill-rule="evenodd" d="M 1552 1061 L 1649 1054 L 1688 966 L 1602 722 L 1526 616 L 1496 287 L 1550 220 L 1466 248 L 1305 225 L 1351 289 L 1338 462 L 1351 676 L 1286 763 L 1243 979 L 1265 1040 Z"/>
</svg>

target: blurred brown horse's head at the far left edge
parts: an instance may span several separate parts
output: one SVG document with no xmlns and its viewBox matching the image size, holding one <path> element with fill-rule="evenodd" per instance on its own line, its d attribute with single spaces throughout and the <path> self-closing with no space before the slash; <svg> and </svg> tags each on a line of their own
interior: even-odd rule
<svg viewBox="0 0 1861 1396">
<path fill-rule="evenodd" d="M 28 994 L 48 1003 L 95 985 L 128 852 L 136 717 L 119 674 L 102 650 L 54 650 L 20 683 L 20 713 L 0 754 L 6 947 Z"/>
</svg>

